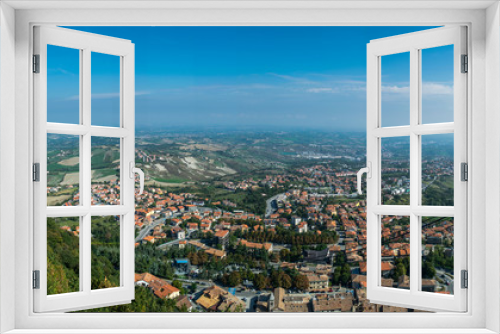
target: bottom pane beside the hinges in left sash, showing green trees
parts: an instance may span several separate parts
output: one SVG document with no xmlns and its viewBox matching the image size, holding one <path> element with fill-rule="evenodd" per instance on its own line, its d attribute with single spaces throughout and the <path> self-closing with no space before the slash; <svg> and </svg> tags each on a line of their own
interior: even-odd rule
<svg viewBox="0 0 500 334">
<path fill-rule="evenodd" d="M 47 218 L 47 295 L 80 291 L 80 218 Z"/>
</svg>

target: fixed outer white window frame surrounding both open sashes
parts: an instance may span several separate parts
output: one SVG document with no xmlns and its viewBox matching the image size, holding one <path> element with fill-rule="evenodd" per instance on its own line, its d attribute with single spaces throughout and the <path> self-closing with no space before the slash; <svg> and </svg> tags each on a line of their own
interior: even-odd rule
<svg viewBox="0 0 500 334">
<path fill-rule="evenodd" d="M 0 276 L 1 330 L 15 333 L 146 328 L 174 332 L 494 333 L 500 331 L 500 18 L 496 1 L 366 2 L 17 2 L 1 4 Z M 132 5 L 131 5 L 132 4 Z M 17 7 L 13 10 L 10 6 Z M 72 7 L 74 6 L 74 7 Z M 99 8 L 97 8 L 99 6 Z M 115 7 L 114 10 L 103 9 Z M 120 9 L 132 6 L 137 9 Z M 147 8 L 149 6 L 149 9 Z M 162 7 L 163 8 L 158 8 Z M 177 6 L 177 8 L 175 8 Z M 21 7 L 21 8 L 20 8 Z M 24 9 L 22 9 L 24 7 Z M 66 8 L 59 8 L 66 7 Z M 76 7 L 80 9 L 75 9 Z M 118 9 L 116 9 L 118 7 Z M 169 8 L 166 8 L 169 7 Z M 182 8 L 178 8 L 182 7 Z M 226 8 L 224 8 L 226 7 Z M 31 8 L 31 9 L 30 9 Z M 48 8 L 48 9 L 47 9 Z M 86 8 L 86 9 L 81 9 Z M 56 10 L 58 9 L 58 10 Z M 486 24 L 485 24 L 486 23 Z M 468 311 L 401 314 L 35 314 L 31 290 L 33 212 L 29 200 L 32 147 L 32 27 L 58 25 L 448 25 L 469 28 L 470 179 Z M 488 66 L 488 71 L 486 71 Z M 12 84 L 14 83 L 14 84 Z M 12 137 L 15 136 L 15 145 Z M 488 154 L 486 154 L 488 152 Z M 486 164 L 488 162 L 488 164 Z M 12 177 L 15 171 L 15 177 Z M 488 175 L 488 182 L 486 176 Z M 12 199 L 11 189 L 15 189 Z M 28 198 L 28 200 L 27 200 Z M 3 210 L 14 207 L 15 210 Z M 15 224 L 12 224 L 15 222 Z M 12 235 L 15 235 L 12 238 Z M 14 250 L 14 256 L 12 256 Z M 10 252 L 10 254 L 9 254 Z M 30 260 L 27 260 L 30 259 Z M 13 288 L 14 287 L 14 288 Z M 142 330 L 133 330 L 141 328 Z M 228 330 L 229 329 L 229 330 Z M 234 330 L 233 330 L 234 329 Z M 345 330 L 341 330 L 345 329 Z"/>
</svg>

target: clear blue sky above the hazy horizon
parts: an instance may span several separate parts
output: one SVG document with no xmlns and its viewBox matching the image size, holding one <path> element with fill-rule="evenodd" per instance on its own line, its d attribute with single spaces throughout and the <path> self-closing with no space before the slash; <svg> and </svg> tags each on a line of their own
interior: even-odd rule
<svg viewBox="0 0 500 334">
<path fill-rule="evenodd" d="M 135 43 L 138 128 L 363 131 L 366 44 L 428 27 L 72 29 Z M 424 122 L 452 121 L 452 51 L 452 47 L 424 51 Z M 118 125 L 118 60 L 113 58 L 92 56 L 95 125 Z M 386 126 L 409 119 L 406 58 L 402 54 L 382 61 Z M 77 51 L 51 47 L 48 74 L 48 120 L 77 122 Z"/>
</svg>

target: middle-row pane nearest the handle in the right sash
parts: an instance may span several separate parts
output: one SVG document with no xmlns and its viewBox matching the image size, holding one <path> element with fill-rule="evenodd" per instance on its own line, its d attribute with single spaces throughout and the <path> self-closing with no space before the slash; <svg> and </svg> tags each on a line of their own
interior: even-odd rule
<svg viewBox="0 0 500 334">
<path fill-rule="evenodd" d="M 382 204 L 410 204 L 410 138 L 382 138 Z"/>
</svg>

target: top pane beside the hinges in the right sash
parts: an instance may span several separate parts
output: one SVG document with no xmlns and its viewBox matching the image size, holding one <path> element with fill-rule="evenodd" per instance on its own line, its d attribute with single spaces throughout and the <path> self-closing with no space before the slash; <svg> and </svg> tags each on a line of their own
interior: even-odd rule
<svg viewBox="0 0 500 334">
<path fill-rule="evenodd" d="M 422 50 L 422 123 L 453 122 L 453 45 Z"/>
</svg>

